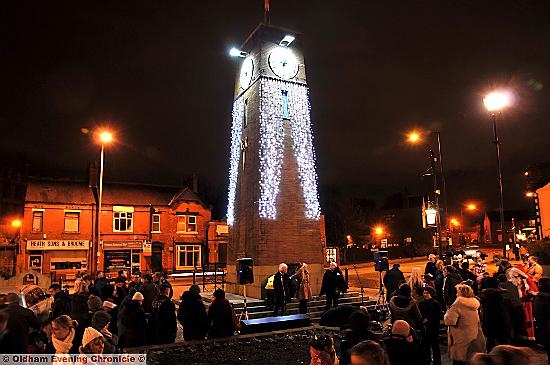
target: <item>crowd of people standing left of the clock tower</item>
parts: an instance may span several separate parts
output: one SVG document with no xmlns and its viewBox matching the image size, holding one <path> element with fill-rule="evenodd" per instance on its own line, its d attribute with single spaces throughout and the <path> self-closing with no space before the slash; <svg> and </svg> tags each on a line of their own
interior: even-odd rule
<svg viewBox="0 0 550 365">
<path fill-rule="evenodd" d="M 0 353 L 112 354 L 123 349 L 175 342 L 177 323 L 186 341 L 227 337 L 237 329 L 235 311 L 222 289 L 207 308 L 198 285 L 181 296 L 176 312 L 164 274 L 119 272 L 107 280 L 79 274 L 74 292 L 52 284 L 49 318 L 41 322 L 9 293 L 0 305 Z"/>
</svg>

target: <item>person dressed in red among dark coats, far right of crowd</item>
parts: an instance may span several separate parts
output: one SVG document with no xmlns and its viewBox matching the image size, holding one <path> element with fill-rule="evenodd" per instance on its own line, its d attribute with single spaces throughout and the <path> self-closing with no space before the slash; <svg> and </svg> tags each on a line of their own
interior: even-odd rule
<svg viewBox="0 0 550 365">
<path fill-rule="evenodd" d="M 509 280 L 517 287 L 519 300 L 523 308 L 524 322 L 523 333 L 527 333 L 529 341 L 535 340 L 535 323 L 533 318 L 533 299 L 538 293 L 538 288 L 535 282 L 523 271 L 523 267 L 513 267 L 508 271 Z"/>
</svg>

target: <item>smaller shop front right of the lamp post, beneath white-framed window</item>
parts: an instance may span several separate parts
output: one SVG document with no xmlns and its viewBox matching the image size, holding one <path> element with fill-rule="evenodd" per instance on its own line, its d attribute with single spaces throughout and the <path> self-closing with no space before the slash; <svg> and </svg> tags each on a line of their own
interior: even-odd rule
<svg viewBox="0 0 550 365">
<path fill-rule="evenodd" d="M 120 270 L 125 271 L 128 275 L 142 271 L 143 245 L 143 241 L 104 241 L 103 270 L 105 275 L 117 277 Z"/>
</svg>

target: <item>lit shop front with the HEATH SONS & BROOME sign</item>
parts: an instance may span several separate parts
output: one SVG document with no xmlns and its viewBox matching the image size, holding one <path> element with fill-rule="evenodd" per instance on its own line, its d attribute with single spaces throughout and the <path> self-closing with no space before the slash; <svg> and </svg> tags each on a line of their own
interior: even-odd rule
<svg viewBox="0 0 550 365">
<path fill-rule="evenodd" d="M 53 281 L 74 280 L 88 270 L 89 240 L 27 240 L 26 269 L 50 274 Z"/>
</svg>

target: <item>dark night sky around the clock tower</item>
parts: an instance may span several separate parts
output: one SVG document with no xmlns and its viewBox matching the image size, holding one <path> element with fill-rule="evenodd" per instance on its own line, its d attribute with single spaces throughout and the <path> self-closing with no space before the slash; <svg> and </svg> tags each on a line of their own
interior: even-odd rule
<svg viewBox="0 0 550 365">
<path fill-rule="evenodd" d="M 196 173 L 225 201 L 239 46 L 262 0 L 17 1 L 2 13 L 2 154 L 31 172 L 84 177 L 109 125 L 106 181 L 179 184 Z M 496 86 L 517 104 L 498 122 L 505 208 L 527 205 L 523 171 L 550 155 L 547 1 L 272 0 L 271 23 L 303 33 L 319 184 L 383 199 L 422 193 L 441 132 L 449 209 L 497 207 Z M 432 138 L 432 147 L 435 140 Z M 323 200 L 323 197 L 321 197 Z"/>
</svg>

